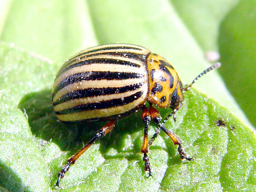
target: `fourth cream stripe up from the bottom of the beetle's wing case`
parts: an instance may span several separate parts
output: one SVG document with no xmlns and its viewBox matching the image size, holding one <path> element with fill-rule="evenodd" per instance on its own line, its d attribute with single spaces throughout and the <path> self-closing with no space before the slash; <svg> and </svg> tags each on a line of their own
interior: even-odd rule
<svg viewBox="0 0 256 192">
<path fill-rule="evenodd" d="M 75 73 L 81 73 L 85 71 L 111 71 L 111 72 L 128 72 L 128 73 L 140 73 L 144 74 L 146 71 L 146 68 L 140 67 L 132 67 L 127 65 L 118 65 L 118 64 L 101 64 L 101 63 L 93 63 L 88 65 L 82 65 L 73 67 L 65 72 L 63 72 L 57 79 L 55 79 L 54 82 L 54 89 L 58 86 L 58 84 L 68 76 L 75 74 Z"/>
</svg>

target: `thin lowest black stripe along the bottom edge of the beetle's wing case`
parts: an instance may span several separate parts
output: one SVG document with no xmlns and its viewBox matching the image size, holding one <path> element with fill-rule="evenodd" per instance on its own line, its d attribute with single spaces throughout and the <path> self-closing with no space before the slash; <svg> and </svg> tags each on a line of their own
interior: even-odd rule
<svg viewBox="0 0 256 192">
<path fill-rule="evenodd" d="M 135 108 L 133 108 L 125 113 L 118 114 L 118 115 L 112 115 L 112 116 L 106 116 L 106 117 L 95 117 L 95 118 L 82 119 L 82 120 L 77 120 L 77 121 L 62 121 L 62 122 L 66 123 L 66 124 L 70 124 L 70 123 L 81 123 L 81 122 L 85 122 L 85 121 L 86 122 L 88 122 L 88 121 L 107 121 L 107 120 L 120 119 L 120 118 L 130 115 L 131 113 L 137 111 L 140 108 L 141 108 L 141 105 L 136 106 Z"/>
</svg>

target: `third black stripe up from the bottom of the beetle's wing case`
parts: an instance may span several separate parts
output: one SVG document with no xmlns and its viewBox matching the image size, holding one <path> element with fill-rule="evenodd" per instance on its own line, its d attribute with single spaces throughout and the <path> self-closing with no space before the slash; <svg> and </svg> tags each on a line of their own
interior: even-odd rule
<svg viewBox="0 0 256 192">
<path fill-rule="evenodd" d="M 110 95 L 110 94 L 117 94 L 117 93 L 125 93 L 128 91 L 132 91 L 135 89 L 140 88 L 144 82 L 131 84 L 123 87 L 106 87 L 106 88 L 87 88 L 87 89 L 79 89 L 76 91 L 69 92 L 63 95 L 59 100 L 53 103 L 53 105 L 58 105 L 64 103 L 66 101 L 72 99 L 80 99 L 85 97 L 95 97 L 99 95 Z"/>
</svg>

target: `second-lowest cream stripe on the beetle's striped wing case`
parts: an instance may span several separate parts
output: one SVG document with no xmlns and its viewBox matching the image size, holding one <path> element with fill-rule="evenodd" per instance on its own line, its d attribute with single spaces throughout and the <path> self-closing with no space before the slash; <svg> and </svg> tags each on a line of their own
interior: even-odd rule
<svg viewBox="0 0 256 192">
<path fill-rule="evenodd" d="M 64 103 L 54 106 L 54 111 L 62 111 L 64 109 L 72 108 L 77 105 L 85 105 L 87 103 L 97 103 L 97 102 L 102 102 L 102 101 L 110 101 L 112 99 L 121 99 L 122 97 L 124 98 L 124 97 L 131 96 L 131 95 L 137 93 L 138 91 L 144 91 L 144 89 L 145 89 L 145 85 L 140 87 L 139 89 L 135 89 L 135 90 L 128 91 L 125 93 L 99 95 L 99 96 L 95 96 L 95 97 L 72 99 L 72 100 L 69 100 Z"/>
</svg>

